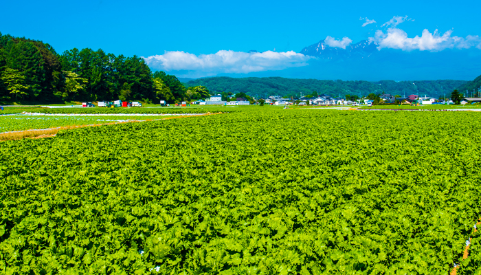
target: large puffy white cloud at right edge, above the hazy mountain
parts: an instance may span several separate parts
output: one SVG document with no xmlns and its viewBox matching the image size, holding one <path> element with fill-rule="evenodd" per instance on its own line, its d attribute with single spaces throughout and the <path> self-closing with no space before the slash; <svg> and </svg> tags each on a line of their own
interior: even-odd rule
<svg viewBox="0 0 481 275">
<path fill-rule="evenodd" d="M 430 51 L 439 52 L 445 49 L 469 49 L 470 47 L 477 47 L 481 49 L 481 39 L 479 36 L 468 35 L 465 38 L 459 36 L 451 36 L 453 30 L 448 30 L 444 34 L 440 34 L 438 30 L 429 32 L 423 30 L 421 37 L 414 36 L 412 38 L 407 36 L 404 30 L 397 28 L 397 25 L 404 21 L 414 21 L 406 17 L 392 17 L 392 19 L 381 26 L 388 27 L 385 32 L 377 30 L 374 37 L 370 37 L 369 41 L 377 43 L 378 50 L 381 49 L 398 49 L 403 51 Z"/>
</svg>

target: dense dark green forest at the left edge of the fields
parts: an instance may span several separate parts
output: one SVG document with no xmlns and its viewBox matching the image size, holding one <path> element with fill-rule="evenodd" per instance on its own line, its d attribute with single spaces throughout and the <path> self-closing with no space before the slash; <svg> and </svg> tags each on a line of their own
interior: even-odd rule
<svg viewBox="0 0 481 275">
<path fill-rule="evenodd" d="M 205 87 L 186 89 L 175 76 L 150 72 L 143 58 L 103 50 L 57 54 L 42 41 L 0 33 L 0 102 L 142 100 L 179 102 L 208 98 Z"/>
</svg>

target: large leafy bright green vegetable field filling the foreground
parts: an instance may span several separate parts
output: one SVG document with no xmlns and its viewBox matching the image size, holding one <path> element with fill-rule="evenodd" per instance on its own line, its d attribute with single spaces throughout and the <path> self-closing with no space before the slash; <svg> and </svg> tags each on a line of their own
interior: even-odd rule
<svg viewBox="0 0 481 275">
<path fill-rule="evenodd" d="M 480 119 L 252 107 L 1 142 L 0 270 L 475 274 Z"/>
</svg>

